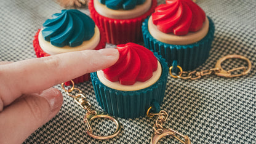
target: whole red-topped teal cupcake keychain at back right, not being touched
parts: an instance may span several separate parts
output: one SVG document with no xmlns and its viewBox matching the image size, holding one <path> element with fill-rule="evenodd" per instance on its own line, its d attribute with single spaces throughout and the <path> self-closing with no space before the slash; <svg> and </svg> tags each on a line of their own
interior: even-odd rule
<svg viewBox="0 0 256 144">
<path fill-rule="evenodd" d="M 214 23 L 191 0 L 166 0 L 142 25 L 145 47 L 158 52 L 169 66 L 177 62 L 193 70 L 209 57 Z"/>
</svg>

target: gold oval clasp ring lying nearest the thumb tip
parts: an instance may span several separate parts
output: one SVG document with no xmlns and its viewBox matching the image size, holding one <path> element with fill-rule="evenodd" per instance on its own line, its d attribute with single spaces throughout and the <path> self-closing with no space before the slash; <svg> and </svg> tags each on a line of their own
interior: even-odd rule
<svg viewBox="0 0 256 144">
<path fill-rule="evenodd" d="M 107 140 L 107 139 L 116 137 L 116 135 L 118 135 L 121 132 L 121 125 L 120 125 L 119 121 L 116 120 L 115 118 L 113 118 L 112 116 L 110 116 L 108 113 L 105 113 L 105 112 L 102 112 L 102 111 L 95 111 L 95 113 L 87 114 L 84 118 L 84 122 L 87 123 L 87 122 L 92 121 L 92 119 L 97 119 L 97 118 L 107 118 L 107 119 L 110 119 L 110 120 L 114 121 L 114 123 L 116 124 L 116 131 L 112 135 L 98 136 L 98 135 L 92 134 L 92 132 L 90 130 L 86 130 L 86 133 L 90 137 L 93 137 L 93 138 L 96 138 L 96 139 L 99 139 L 99 140 Z"/>
</svg>

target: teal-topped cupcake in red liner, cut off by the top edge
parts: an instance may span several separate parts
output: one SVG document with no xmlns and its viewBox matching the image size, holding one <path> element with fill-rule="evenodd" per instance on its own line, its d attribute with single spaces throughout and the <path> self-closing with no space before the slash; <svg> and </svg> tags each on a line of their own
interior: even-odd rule
<svg viewBox="0 0 256 144">
<path fill-rule="evenodd" d="M 88 4 L 92 19 L 105 29 L 111 44 L 142 40 L 142 22 L 156 6 L 156 0 L 90 0 Z"/>
</svg>

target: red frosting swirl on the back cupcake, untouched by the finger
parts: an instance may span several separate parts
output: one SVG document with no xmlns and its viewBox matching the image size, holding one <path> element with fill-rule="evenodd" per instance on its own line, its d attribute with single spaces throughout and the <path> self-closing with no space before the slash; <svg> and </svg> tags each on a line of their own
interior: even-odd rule
<svg viewBox="0 0 256 144">
<path fill-rule="evenodd" d="M 159 31 L 180 36 L 200 30 L 206 14 L 191 0 L 166 0 L 156 7 L 152 20 Z"/>
</svg>

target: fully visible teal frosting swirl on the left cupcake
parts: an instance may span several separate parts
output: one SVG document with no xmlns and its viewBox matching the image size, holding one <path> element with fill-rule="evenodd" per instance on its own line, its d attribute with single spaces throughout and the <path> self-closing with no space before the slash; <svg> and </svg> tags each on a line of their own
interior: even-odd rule
<svg viewBox="0 0 256 144">
<path fill-rule="evenodd" d="M 94 36 L 95 23 L 76 9 L 62 10 L 42 24 L 42 37 L 57 47 L 75 47 Z"/>
</svg>

